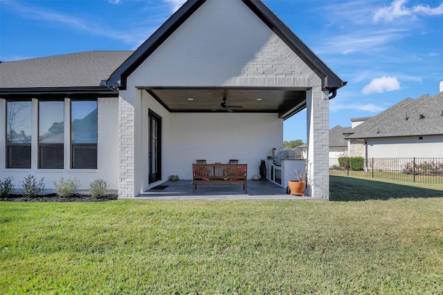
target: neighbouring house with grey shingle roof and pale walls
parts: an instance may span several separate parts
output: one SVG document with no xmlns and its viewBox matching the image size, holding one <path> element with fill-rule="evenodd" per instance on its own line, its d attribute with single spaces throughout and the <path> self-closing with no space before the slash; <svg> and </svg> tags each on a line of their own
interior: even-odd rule
<svg viewBox="0 0 443 295">
<path fill-rule="evenodd" d="M 443 89 L 435 96 L 406 98 L 352 128 L 350 156 L 442 158 Z M 354 121 L 353 121 L 354 125 Z"/>
</svg>

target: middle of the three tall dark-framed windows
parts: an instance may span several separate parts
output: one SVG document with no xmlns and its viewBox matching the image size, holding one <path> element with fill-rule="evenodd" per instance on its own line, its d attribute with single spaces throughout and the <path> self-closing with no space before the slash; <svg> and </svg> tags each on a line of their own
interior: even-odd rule
<svg viewBox="0 0 443 295">
<path fill-rule="evenodd" d="M 64 102 L 39 101 L 39 168 L 64 168 Z"/>
</svg>

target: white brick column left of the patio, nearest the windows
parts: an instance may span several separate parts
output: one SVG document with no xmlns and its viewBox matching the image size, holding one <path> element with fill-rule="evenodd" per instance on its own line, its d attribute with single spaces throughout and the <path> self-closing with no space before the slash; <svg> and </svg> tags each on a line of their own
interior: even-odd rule
<svg viewBox="0 0 443 295">
<path fill-rule="evenodd" d="M 123 91 L 121 91 L 123 92 Z M 121 94 L 118 98 L 118 196 L 134 197 L 135 109 Z"/>
</svg>

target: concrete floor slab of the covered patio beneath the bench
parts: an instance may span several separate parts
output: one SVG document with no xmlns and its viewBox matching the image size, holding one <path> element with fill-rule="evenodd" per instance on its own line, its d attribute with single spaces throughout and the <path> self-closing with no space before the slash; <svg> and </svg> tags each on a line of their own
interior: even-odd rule
<svg viewBox="0 0 443 295">
<path fill-rule="evenodd" d="M 134 199 L 119 197 L 118 199 Z M 192 192 L 192 180 L 165 181 L 158 188 L 138 195 L 135 199 L 141 200 L 263 200 L 263 199 L 291 199 L 291 200 L 312 200 L 314 197 L 291 196 L 286 193 L 286 188 L 277 186 L 271 181 L 248 180 L 248 193 L 244 193 L 242 186 L 238 184 L 210 184 L 199 185 L 197 190 Z"/>
</svg>

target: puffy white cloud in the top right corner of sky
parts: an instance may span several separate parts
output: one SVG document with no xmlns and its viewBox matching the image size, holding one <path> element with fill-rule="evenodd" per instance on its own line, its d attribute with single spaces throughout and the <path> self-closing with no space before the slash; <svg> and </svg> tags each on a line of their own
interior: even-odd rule
<svg viewBox="0 0 443 295">
<path fill-rule="evenodd" d="M 390 6 L 379 8 L 374 12 L 374 22 L 391 22 L 399 17 L 417 17 L 418 15 L 443 15 L 443 2 L 440 6 L 431 8 L 428 5 L 419 4 L 411 8 L 406 7 L 407 0 L 394 0 Z"/>
</svg>

